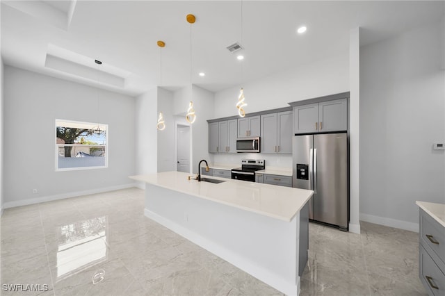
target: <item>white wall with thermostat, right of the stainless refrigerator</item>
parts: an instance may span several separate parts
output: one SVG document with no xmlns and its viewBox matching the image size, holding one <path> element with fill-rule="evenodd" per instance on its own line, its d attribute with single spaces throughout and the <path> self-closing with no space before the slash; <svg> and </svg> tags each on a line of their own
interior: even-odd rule
<svg viewBox="0 0 445 296">
<path fill-rule="evenodd" d="M 418 231 L 416 200 L 445 203 L 444 23 L 360 52 L 360 218 Z"/>
</svg>

